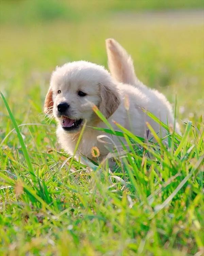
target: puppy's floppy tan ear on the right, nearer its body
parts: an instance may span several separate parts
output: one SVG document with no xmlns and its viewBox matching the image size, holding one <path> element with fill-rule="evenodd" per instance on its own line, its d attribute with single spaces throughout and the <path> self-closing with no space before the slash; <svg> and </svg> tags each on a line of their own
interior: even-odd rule
<svg viewBox="0 0 204 256">
<path fill-rule="evenodd" d="M 106 117 L 109 118 L 120 105 L 120 95 L 118 89 L 113 85 L 100 84 L 99 110 Z"/>
</svg>

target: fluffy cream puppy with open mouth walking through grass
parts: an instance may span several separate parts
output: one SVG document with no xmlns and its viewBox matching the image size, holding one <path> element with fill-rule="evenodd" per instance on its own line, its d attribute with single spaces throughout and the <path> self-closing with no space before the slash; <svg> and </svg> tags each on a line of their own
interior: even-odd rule
<svg viewBox="0 0 204 256">
<path fill-rule="evenodd" d="M 166 135 L 166 131 L 149 118 L 140 106 L 164 123 L 168 120 L 168 124 L 173 126 L 175 122 L 170 103 L 163 94 L 139 82 L 132 59 L 122 46 L 114 39 L 107 39 L 106 49 L 112 75 L 102 66 L 87 61 L 75 61 L 57 67 L 51 76 L 44 111 L 54 115 L 58 123 L 58 141 L 70 155 L 74 153 L 82 126 L 85 122 L 87 125 L 78 147 L 77 159 L 80 153 L 92 158 L 93 146 L 99 148 L 101 159 L 109 153 L 105 144 L 97 140 L 97 136 L 103 133 L 91 128 L 107 128 L 92 110 L 93 105 L 99 108 L 115 130 L 118 128 L 112 120 L 131 129 L 140 137 L 146 136 L 146 122 L 149 122 L 160 136 Z M 129 110 L 125 107 L 127 101 Z M 176 132 L 179 132 L 177 123 Z M 119 145 L 115 136 L 110 136 L 110 141 L 113 146 Z"/>
</svg>

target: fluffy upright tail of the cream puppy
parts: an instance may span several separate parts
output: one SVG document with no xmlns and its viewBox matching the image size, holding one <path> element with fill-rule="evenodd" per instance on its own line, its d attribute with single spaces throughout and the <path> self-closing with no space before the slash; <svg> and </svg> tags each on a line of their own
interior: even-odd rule
<svg viewBox="0 0 204 256">
<path fill-rule="evenodd" d="M 125 49 L 114 39 L 106 39 L 108 67 L 112 76 L 121 83 L 136 85 L 133 61 Z"/>
</svg>

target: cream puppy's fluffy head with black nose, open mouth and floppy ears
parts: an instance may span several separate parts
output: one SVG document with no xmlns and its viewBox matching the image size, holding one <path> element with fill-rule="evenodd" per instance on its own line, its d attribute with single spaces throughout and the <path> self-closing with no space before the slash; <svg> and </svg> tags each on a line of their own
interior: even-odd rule
<svg viewBox="0 0 204 256">
<path fill-rule="evenodd" d="M 84 120 L 94 126 L 92 106 L 106 118 L 120 104 L 120 95 L 111 75 L 103 67 L 86 61 L 67 63 L 52 73 L 44 111 L 53 114 L 67 132 L 78 132 Z"/>
</svg>

